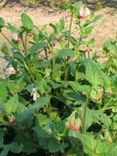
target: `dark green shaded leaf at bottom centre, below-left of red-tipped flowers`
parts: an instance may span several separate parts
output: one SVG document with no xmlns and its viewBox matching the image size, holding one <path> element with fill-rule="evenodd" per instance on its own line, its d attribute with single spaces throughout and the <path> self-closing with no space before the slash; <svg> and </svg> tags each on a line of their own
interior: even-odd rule
<svg viewBox="0 0 117 156">
<path fill-rule="evenodd" d="M 60 144 L 57 139 L 51 138 L 48 143 L 48 148 L 50 153 L 62 151 L 67 147 L 67 144 Z"/>
</svg>

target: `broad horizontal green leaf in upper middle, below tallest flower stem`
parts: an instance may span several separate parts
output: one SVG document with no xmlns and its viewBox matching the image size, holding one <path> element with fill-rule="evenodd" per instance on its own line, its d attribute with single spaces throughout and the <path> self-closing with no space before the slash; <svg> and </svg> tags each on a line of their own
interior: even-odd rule
<svg viewBox="0 0 117 156">
<path fill-rule="evenodd" d="M 62 58 L 62 57 L 70 57 L 70 56 L 74 56 L 75 55 L 75 52 L 71 49 L 61 49 L 59 50 L 57 53 L 56 53 L 56 56 L 59 57 L 59 58 Z"/>
</svg>

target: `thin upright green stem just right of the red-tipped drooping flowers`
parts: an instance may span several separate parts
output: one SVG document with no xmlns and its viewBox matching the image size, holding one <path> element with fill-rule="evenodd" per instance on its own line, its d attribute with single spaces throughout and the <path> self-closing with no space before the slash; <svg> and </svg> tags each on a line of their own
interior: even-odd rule
<svg viewBox="0 0 117 156">
<path fill-rule="evenodd" d="M 86 113 L 87 113 L 87 106 L 88 106 L 88 102 L 89 102 L 89 97 L 86 97 L 86 102 L 85 102 L 85 106 L 84 106 L 84 114 L 83 114 L 83 119 L 82 119 L 82 132 L 85 133 L 86 132 Z"/>
</svg>

